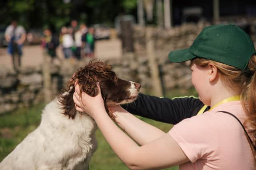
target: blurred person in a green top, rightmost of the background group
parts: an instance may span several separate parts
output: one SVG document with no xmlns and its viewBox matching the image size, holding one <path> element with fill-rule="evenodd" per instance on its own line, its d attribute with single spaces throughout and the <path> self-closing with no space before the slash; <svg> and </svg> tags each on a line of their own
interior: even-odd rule
<svg viewBox="0 0 256 170">
<path fill-rule="evenodd" d="M 88 32 L 82 35 L 84 53 L 86 57 L 94 57 L 94 28 L 90 27 Z"/>
</svg>

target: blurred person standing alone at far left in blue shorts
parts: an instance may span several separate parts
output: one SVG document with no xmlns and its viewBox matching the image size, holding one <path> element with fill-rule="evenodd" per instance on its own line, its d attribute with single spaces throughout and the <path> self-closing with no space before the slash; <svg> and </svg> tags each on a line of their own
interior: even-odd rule
<svg viewBox="0 0 256 170">
<path fill-rule="evenodd" d="M 14 70 L 18 70 L 21 66 L 20 60 L 22 56 L 23 43 L 26 40 L 26 30 L 22 25 L 17 25 L 16 20 L 12 20 L 11 24 L 6 28 L 4 36 L 8 42 L 7 51 L 12 56 Z M 16 52 L 18 55 L 15 55 Z"/>
</svg>

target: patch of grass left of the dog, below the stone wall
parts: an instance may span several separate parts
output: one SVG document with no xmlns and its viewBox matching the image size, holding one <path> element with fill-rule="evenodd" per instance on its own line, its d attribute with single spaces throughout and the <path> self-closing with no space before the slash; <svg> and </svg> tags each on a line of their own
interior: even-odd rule
<svg viewBox="0 0 256 170">
<path fill-rule="evenodd" d="M 0 161 L 40 123 L 44 105 L 18 109 L 0 116 Z"/>
</svg>

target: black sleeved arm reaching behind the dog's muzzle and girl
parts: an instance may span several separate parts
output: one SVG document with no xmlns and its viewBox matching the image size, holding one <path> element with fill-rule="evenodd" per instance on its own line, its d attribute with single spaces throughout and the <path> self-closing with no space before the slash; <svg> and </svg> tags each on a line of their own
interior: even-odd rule
<svg viewBox="0 0 256 170">
<path fill-rule="evenodd" d="M 204 104 L 194 97 L 169 99 L 145 94 L 139 94 L 131 104 L 122 105 L 132 114 L 171 124 L 196 115 L 203 106 Z"/>
</svg>

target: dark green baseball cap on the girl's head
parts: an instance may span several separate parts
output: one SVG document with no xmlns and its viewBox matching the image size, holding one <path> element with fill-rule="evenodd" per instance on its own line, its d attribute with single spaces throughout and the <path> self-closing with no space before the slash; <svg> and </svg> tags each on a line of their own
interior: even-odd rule
<svg viewBox="0 0 256 170">
<path fill-rule="evenodd" d="M 230 24 L 205 27 L 190 48 L 171 51 L 168 57 L 174 63 L 201 57 L 244 70 L 254 53 L 249 35 Z"/>
</svg>

